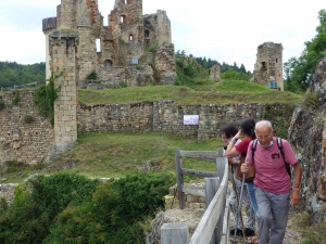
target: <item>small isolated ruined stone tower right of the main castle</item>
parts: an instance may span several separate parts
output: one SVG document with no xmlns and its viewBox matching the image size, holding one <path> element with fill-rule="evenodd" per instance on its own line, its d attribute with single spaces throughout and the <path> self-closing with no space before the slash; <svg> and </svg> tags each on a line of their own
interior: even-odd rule
<svg viewBox="0 0 326 244">
<path fill-rule="evenodd" d="M 281 43 L 264 42 L 258 47 L 252 81 L 271 89 L 284 90 Z"/>
</svg>

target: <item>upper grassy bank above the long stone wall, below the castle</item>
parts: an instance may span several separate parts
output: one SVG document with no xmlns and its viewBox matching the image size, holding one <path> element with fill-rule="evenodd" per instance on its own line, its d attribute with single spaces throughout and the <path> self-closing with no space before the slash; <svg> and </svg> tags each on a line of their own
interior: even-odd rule
<svg viewBox="0 0 326 244">
<path fill-rule="evenodd" d="M 78 101 L 85 104 L 111 104 L 128 102 L 154 102 L 174 100 L 178 104 L 229 104 L 229 103 L 301 103 L 302 94 L 277 92 L 264 86 L 227 80 L 214 82 L 199 79 L 190 87 L 151 86 L 128 87 L 114 90 L 78 90 Z"/>
</svg>

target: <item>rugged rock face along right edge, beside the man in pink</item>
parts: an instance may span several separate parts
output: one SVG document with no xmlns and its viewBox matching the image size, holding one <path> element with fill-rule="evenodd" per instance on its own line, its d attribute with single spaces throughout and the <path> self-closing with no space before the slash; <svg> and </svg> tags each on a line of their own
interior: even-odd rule
<svg viewBox="0 0 326 244">
<path fill-rule="evenodd" d="M 303 168 L 298 208 L 308 210 L 313 220 L 326 222 L 326 57 L 317 63 L 311 92 L 293 113 L 289 141 Z"/>
</svg>

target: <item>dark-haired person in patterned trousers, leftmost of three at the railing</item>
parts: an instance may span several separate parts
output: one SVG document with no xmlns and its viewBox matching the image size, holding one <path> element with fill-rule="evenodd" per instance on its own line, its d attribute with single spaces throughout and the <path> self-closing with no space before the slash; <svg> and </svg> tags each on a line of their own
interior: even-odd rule
<svg viewBox="0 0 326 244">
<path fill-rule="evenodd" d="M 222 134 L 222 140 L 227 144 L 224 146 L 224 150 L 227 151 L 230 140 L 238 132 L 238 128 L 234 125 L 227 125 L 223 127 L 220 131 Z M 239 139 L 237 140 L 236 144 L 239 144 L 241 140 Z M 231 171 L 233 171 L 231 177 L 234 178 L 234 182 L 235 182 L 234 188 L 231 189 L 229 194 L 229 206 L 234 215 L 235 227 L 237 228 L 237 235 L 242 235 L 243 232 L 242 232 L 241 222 L 238 220 L 239 216 L 237 215 L 238 204 L 239 204 L 238 201 L 240 198 L 240 191 L 241 191 L 241 181 L 236 178 L 238 164 L 240 163 L 239 154 L 233 157 L 228 157 L 228 163 L 229 166 L 231 167 Z M 255 215 L 252 205 L 250 203 L 250 197 L 246 188 L 243 189 L 242 192 L 242 201 L 246 207 L 246 215 L 248 217 L 246 222 L 246 229 L 243 231 L 246 236 L 252 236 L 254 235 Z M 235 229 L 230 230 L 230 234 L 233 235 L 235 234 Z"/>
</svg>

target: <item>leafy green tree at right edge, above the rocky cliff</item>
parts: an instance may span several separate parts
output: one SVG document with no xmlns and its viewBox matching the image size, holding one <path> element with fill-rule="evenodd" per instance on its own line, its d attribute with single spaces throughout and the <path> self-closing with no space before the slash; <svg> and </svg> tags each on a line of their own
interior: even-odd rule
<svg viewBox="0 0 326 244">
<path fill-rule="evenodd" d="M 313 78 L 316 64 L 326 55 L 326 11 L 318 12 L 319 25 L 316 27 L 316 36 L 304 42 L 302 54 L 291 57 L 284 64 L 285 89 L 293 92 L 304 92 Z"/>
</svg>

